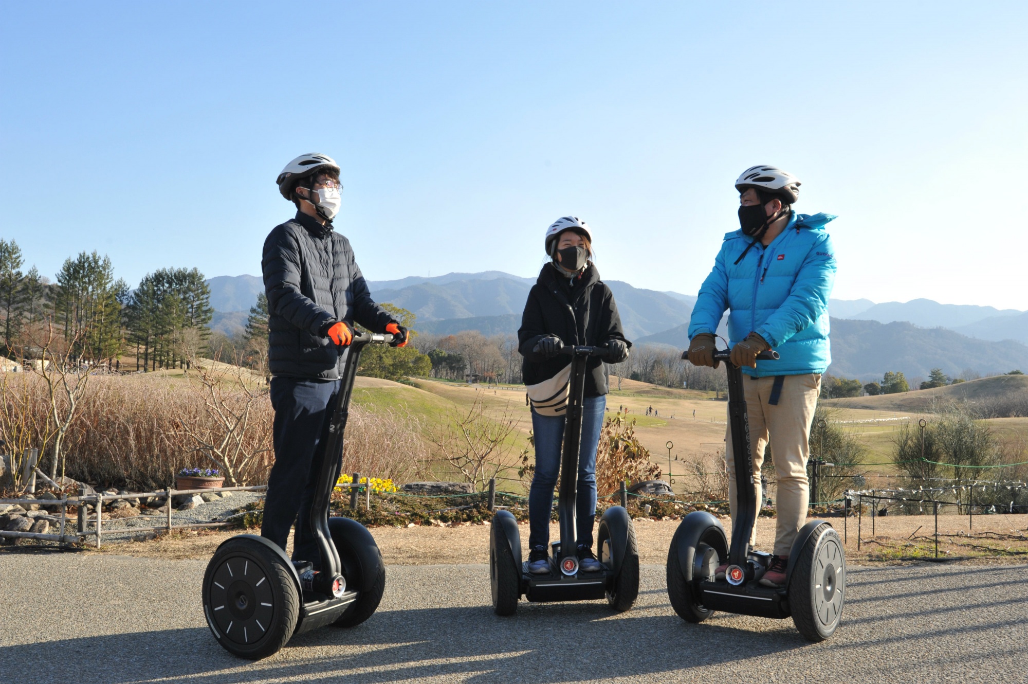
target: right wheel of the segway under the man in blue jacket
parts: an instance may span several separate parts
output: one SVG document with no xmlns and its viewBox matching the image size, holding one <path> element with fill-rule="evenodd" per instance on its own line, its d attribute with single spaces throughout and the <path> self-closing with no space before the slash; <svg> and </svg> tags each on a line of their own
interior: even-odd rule
<svg viewBox="0 0 1028 684">
<path fill-rule="evenodd" d="M 822 525 L 807 540 L 788 581 L 793 622 L 807 641 L 831 637 L 846 600 L 846 556 L 839 535 Z"/>
</svg>

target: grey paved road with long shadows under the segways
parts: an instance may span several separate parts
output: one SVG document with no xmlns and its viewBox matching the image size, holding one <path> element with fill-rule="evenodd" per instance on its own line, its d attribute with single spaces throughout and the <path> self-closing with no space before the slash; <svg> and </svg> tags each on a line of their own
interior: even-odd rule
<svg viewBox="0 0 1028 684">
<path fill-rule="evenodd" d="M 1024 682 L 1028 567 L 853 568 L 843 625 L 808 644 L 792 621 L 676 617 L 663 567 L 639 603 L 488 607 L 485 566 L 389 568 L 378 612 L 251 663 L 199 610 L 204 563 L 0 554 L 0 680 L 46 682 Z"/>
</svg>

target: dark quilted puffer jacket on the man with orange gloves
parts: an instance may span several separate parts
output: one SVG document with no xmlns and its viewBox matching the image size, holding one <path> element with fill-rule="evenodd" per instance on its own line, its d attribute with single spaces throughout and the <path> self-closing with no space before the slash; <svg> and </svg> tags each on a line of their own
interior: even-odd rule
<svg viewBox="0 0 1028 684">
<path fill-rule="evenodd" d="M 394 323 L 371 299 L 350 241 L 306 214 L 277 225 L 261 259 L 267 293 L 268 370 L 336 380 L 345 352 L 321 334 L 326 323 L 357 321 L 373 332 Z"/>
</svg>

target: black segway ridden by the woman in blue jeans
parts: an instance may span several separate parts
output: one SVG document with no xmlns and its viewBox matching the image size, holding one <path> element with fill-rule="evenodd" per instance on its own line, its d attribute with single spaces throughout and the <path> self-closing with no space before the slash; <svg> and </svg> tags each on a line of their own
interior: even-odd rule
<svg viewBox="0 0 1028 684">
<path fill-rule="evenodd" d="M 536 575 L 521 561 L 521 537 L 510 511 L 492 516 L 489 534 L 489 582 L 497 615 L 513 615 L 523 595 L 529 602 L 596 601 L 607 599 L 616 611 L 632 607 L 639 590 L 639 554 L 635 529 L 628 511 L 612 506 L 600 516 L 596 534 L 603 569 L 580 572 L 575 538 L 575 502 L 578 485 L 579 446 L 582 439 L 582 400 L 585 394 L 586 359 L 604 357 L 600 347 L 564 347 L 572 357 L 563 449 L 560 458 L 560 490 L 557 503 L 560 541 L 550 544 L 550 572 Z"/>
</svg>

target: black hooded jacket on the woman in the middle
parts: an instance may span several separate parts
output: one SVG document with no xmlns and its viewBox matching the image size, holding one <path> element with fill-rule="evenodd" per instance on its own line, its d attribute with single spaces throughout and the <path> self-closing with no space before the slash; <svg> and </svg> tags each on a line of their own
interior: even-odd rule
<svg viewBox="0 0 1028 684">
<path fill-rule="evenodd" d="M 533 352 L 539 339 L 554 334 L 565 345 L 602 346 L 609 339 L 625 339 L 621 317 L 614 294 L 602 281 L 599 272 L 590 263 L 576 278 L 568 279 L 552 263 L 539 273 L 539 279 L 528 292 L 528 300 L 521 315 L 521 328 L 517 331 L 518 351 L 524 357 L 521 373 L 525 385 L 549 380 L 571 363 L 571 357 L 557 356 L 545 359 Z M 590 358 L 585 375 L 585 396 L 607 394 L 607 376 L 602 361 Z"/>
</svg>

